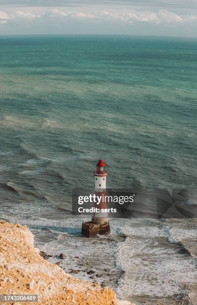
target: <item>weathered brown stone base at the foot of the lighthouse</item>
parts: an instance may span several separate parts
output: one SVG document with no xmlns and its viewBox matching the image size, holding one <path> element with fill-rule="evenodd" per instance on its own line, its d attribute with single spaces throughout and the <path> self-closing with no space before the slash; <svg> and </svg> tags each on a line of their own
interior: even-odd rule
<svg viewBox="0 0 197 305">
<path fill-rule="evenodd" d="M 97 234 L 108 235 L 110 234 L 109 223 L 98 224 L 89 222 L 83 222 L 82 224 L 82 235 L 86 237 L 96 237 Z"/>
</svg>

